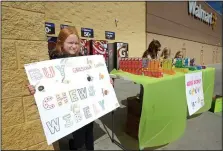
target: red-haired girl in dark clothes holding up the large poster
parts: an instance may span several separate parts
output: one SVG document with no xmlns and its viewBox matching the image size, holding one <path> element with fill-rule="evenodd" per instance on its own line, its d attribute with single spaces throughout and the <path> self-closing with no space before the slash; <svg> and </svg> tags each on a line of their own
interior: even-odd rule
<svg viewBox="0 0 223 151">
<path fill-rule="evenodd" d="M 56 49 L 49 52 L 51 59 L 81 56 L 80 37 L 76 28 L 67 27 L 60 31 Z M 35 93 L 35 88 L 28 85 L 30 94 Z M 87 150 L 94 150 L 93 122 L 85 125 L 79 130 L 72 133 L 73 138 L 69 141 L 71 150 L 78 150 L 85 145 Z"/>
</svg>

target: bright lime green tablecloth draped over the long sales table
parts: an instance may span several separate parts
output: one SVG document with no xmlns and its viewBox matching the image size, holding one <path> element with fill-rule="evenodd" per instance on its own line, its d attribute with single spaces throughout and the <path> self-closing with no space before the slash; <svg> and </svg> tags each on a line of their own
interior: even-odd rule
<svg viewBox="0 0 223 151">
<path fill-rule="evenodd" d="M 211 108 L 215 69 L 202 71 L 205 106 L 196 114 Z M 185 74 L 164 75 L 163 78 L 139 76 L 113 70 L 112 74 L 127 77 L 144 87 L 139 126 L 139 147 L 155 147 L 171 143 L 184 134 L 187 120 Z"/>
</svg>

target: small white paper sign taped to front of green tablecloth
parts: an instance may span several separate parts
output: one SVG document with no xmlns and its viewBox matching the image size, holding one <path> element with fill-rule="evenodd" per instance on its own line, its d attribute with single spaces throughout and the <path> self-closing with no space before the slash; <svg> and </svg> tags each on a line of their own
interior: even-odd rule
<svg viewBox="0 0 223 151">
<path fill-rule="evenodd" d="M 202 72 L 185 74 L 186 97 L 189 115 L 204 106 Z"/>
</svg>

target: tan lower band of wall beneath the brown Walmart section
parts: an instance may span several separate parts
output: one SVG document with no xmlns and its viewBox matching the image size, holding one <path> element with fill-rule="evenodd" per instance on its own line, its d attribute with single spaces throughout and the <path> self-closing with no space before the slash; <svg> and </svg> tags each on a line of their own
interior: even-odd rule
<svg viewBox="0 0 223 151">
<path fill-rule="evenodd" d="M 174 57 L 175 53 L 179 50 L 186 50 L 185 55 L 195 58 L 196 64 L 201 64 L 202 62 L 205 65 L 222 63 L 222 47 L 151 33 L 147 33 L 147 47 L 152 39 L 160 41 L 162 45 L 161 49 L 169 47 L 171 49 L 171 57 Z M 203 50 L 203 56 L 201 55 L 201 50 Z"/>
</svg>

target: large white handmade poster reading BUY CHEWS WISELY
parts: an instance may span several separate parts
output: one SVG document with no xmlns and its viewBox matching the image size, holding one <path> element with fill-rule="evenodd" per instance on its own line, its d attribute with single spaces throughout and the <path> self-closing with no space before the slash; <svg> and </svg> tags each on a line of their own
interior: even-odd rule
<svg viewBox="0 0 223 151">
<path fill-rule="evenodd" d="M 102 55 L 25 65 L 48 145 L 119 107 Z"/>
</svg>

